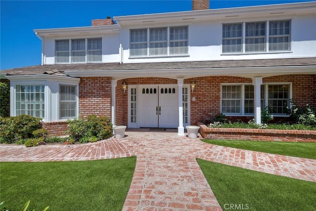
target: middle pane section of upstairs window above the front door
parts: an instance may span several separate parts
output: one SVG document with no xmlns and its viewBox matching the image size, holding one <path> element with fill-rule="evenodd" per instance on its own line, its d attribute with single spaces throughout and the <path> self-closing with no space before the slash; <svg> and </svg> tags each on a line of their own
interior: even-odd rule
<svg viewBox="0 0 316 211">
<path fill-rule="evenodd" d="M 150 55 L 167 54 L 167 28 L 150 29 Z"/>
</svg>

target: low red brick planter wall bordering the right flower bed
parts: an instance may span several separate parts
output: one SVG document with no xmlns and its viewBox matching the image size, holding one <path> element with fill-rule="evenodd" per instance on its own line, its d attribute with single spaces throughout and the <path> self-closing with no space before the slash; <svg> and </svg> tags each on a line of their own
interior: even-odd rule
<svg viewBox="0 0 316 211">
<path fill-rule="evenodd" d="M 209 139 L 316 142 L 316 130 L 209 128 L 203 123 L 197 126 L 201 136 Z"/>
</svg>

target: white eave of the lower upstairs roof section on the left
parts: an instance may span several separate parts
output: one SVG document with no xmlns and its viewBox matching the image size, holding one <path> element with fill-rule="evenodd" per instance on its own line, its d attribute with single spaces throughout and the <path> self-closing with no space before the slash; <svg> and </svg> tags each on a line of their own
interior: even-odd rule
<svg viewBox="0 0 316 211">
<path fill-rule="evenodd" d="M 83 27 L 69 27 L 69 28 L 52 28 L 52 29 L 34 29 L 33 30 L 36 34 L 40 36 L 54 36 L 56 34 L 74 34 L 74 33 L 112 33 L 112 32 L 119 32 L 118 24 L 113 25 L 102 25 L 102 26 L 83 26 Z M 53 33 L 53 34 L 52 34 Z"/>
</svg>

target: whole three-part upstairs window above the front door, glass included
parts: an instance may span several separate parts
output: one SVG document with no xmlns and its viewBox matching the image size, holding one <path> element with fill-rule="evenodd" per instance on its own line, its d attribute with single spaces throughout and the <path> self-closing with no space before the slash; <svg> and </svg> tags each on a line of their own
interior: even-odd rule
<svg viewBox="0 0 316 211">
<path fill-rule="evenodd" d="M 188 54 L 188 27 L 130 30 L 130 56 Z"/>
</svg>

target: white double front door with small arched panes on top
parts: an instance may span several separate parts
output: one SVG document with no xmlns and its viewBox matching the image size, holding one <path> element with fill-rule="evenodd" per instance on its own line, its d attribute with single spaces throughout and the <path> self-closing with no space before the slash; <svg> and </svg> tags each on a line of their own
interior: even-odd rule
<svg viewBox="0 0 316 211">
<path fill-rule="evenodd" d="M 140 86 L 140 127 L 178 127 L 177 85 Z"/>
</svg>

